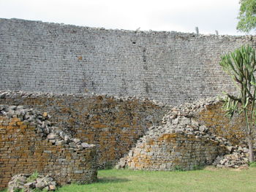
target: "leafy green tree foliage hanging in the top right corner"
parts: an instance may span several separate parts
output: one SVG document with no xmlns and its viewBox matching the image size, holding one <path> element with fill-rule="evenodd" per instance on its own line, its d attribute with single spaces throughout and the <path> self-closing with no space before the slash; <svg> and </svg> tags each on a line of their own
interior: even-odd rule
<svg viewBox="0 0 256 192">
<path fill-rule="evenodd" d="M 238 31 L 249 32 L 256 28 L 256 1 L 240 0 L 240 11 L 238 13 Z"/>
</svg>

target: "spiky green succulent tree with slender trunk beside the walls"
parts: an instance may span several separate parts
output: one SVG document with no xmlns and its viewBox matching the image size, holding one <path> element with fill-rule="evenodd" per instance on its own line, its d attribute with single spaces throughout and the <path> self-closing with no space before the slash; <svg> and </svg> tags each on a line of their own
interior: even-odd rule
<svg viewBox="0 0 256 192">
<path fill-rule="evenodd" d="M 253 155 L 253 132 L 255 127 L 255 97 L 256 71 L 255 50 L 248 46 L 242 46 L 233 53 L 222 56 L 220 61 L 222 69 L 230 75 L 236 88 L 238 96 L 225 93 L 224 109 L 226 115 L 232 117 L 235 113 L 244 114 L 246 123 L 246 139 L 249 147 L 249 161 L 254 160 Z"/>
</svg>

